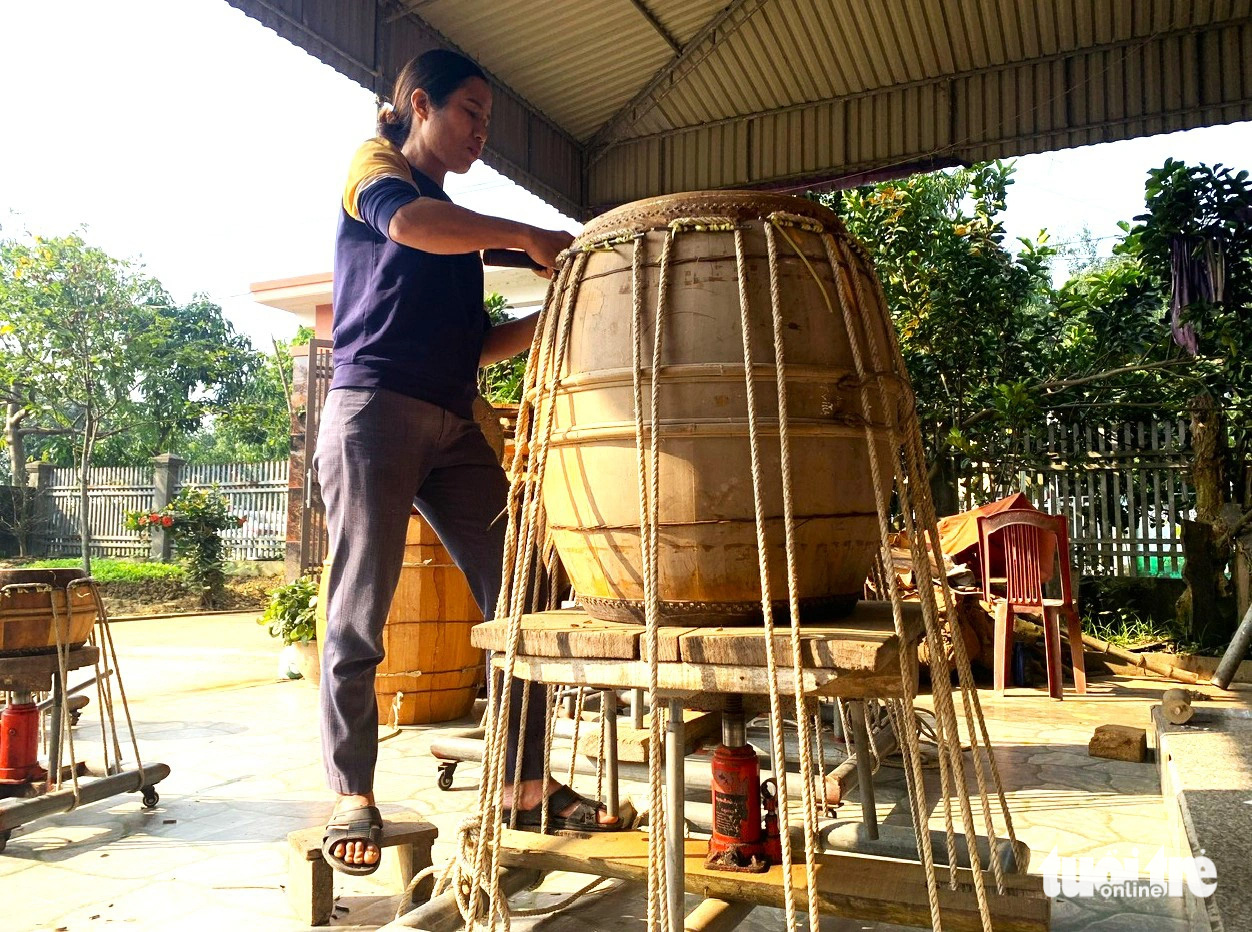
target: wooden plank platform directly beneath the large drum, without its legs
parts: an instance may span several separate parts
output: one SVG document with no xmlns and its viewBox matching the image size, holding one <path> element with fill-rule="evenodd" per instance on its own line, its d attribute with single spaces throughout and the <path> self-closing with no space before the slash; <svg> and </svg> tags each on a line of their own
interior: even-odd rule
<svg viewBox="0 0 1252 932">
<path fill-rule="evenodd" d="M 921 638 L 920 605 L 904 605 L 906 650 Z M 646 689 L 649 663 L 642 625 L 600 621 L 578 610 L 522 616 L 515 671 L 537 683 Z M 508 623 L 487 621 L 472 631 L 473 645 L 497 653 L 507 646 Z M 666 696 L 691 699 L 736 693 L 769 694 L 762 628 L 661 628 L 657 675 Z M 800 629 L 804 691 L 844 698 L 893 698 L 904 691 L 900 639 L 890 603 L 863 601 L 836 623 Z M 777 626 L 774 651 L 779 688 L 794 691 L 791 631 Z M 498 660 L 498 658 L 497 658 Z M 916 666 L 913 666 L 916 688 Z"/>
</svg>

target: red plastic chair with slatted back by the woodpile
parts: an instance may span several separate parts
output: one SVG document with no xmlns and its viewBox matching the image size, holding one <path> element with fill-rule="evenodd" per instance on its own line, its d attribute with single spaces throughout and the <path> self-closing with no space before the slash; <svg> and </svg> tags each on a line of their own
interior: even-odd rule
<svg viewBox="0 0 1252 932">
<path fill-rule="evenodd" d="M 1053 544 L 1057 550 L 1054 560 Z M 1003 694 L 1004 684 L 1009 679 L 1009 666 L 1013 660 L 1013 614 L 1019 609 L 1034 609 L 1043 615 L 1048 695 L 1053 699 L 1062 698 L 1062 613 L 1069 625 L 1074 691 L 1084 694 L 1087 670 L 1083 666 L 1082 626 L 1078 621 L 1078 610 L 1074 608 L 1069 579 L 1069 527 L 1065 519 L 1034 510 L 1010 510 L 982 516 L 978 519 L 978 559 L 983 572 L 983 598 L 995 603 L 995 691 Z M 999 571 L 1004 575 L 999 576 Z M 1060 577 L 1059 599 L 1044 594 L 1044 586 L 1055 576 Z M 1004 586 L 1003 596 L 992 593 L 992 586 L 999 584 Z"/>
</svg>

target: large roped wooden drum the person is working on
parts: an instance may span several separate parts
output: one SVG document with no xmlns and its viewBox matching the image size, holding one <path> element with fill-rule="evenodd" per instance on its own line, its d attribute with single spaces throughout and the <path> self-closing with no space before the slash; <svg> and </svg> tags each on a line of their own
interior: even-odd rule
<svg viewBox="0 0 1252 932">
<path fill-rule="evenodd" d="M 874 272 L 829 209 L 799 198 L 704 192 L 618 208 L 575 243 L 588 251 L 568 311 L 543 504 L 575 589 L 596 618 L 644 618 L 640 499 L 632 388 L 632 254 L 644 248 L 642 398 L 650 417 L 660 380 L 660 599 L 671 625 L 751 623 L 761 616 L 749 446 L 740 288 L 749 306 L 760 431 L 770 594 L 788 605 L 779 445 L 779 391 L 766 225 L 782 224 L 777 288 L 782 313 L 795 554 L 801 616 L 849 610 L 879 545 L 866 425 L 890 481 L 886 412 L 863 410 L 843 308 L 854 338 L 881 372 L 871 393 L 895 405 L 903 382 Z M 781 214 L 790 215 L 791 219 Z M 684 223 L 684 220 L 689 220 Z M 736 261 L 735 232 L 746 261 Z M 674 232 L 671 233 L 671 224 Z M 652 371 L 662 244 L 672 236 L 660 375 Z M 834 266 L 828 239 L 836 248 Z M 804 258 L 796 254 L 791 243 Z M 578 268 L 578 266 L 573 266 Z M 840 287 L 836 287 L 836 274 Z M 557 302 L 570 303 L 558 289 Z M 553 331 L 556 333 L 558 331 Z M 555 343 L 555 339 L 550 341 Z M 885 392 L 885 393 L 880 393 Z"/>
</svg>

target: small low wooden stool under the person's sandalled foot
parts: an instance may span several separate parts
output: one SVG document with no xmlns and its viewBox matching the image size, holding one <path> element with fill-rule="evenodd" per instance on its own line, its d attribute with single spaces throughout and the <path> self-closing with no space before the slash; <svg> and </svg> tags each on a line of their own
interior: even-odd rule
<svg viewBox="0 0 1252 932">
<path fill-rule="evenodd" d="M 302 828 L 287 836 L 287 899 L 299 922 L 326 926 L 334 911 L 334 871 L 322 857 L 323 827 Z M 431 846 L 439 831 L 413 814 L 388 816 L 383 824 L 382 847 L 396 849 L 399 883 L 408 882 L 431 866 Z M 382 869 L 382 868 L 379 868 Z M 434 886 L 423 883 L 413 891 L 413 902 L 422 903 Z"/>
</svg>

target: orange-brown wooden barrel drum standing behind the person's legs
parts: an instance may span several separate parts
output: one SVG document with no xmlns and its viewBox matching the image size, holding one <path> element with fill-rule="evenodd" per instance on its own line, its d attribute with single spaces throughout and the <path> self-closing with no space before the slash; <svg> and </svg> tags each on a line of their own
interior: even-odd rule
<svg viewBox="0 0 1252 932">
<path fill-rule="evenodd" d="M 326 643 L 323 606 L 329 579 L 328 571 L 322 574 L 318 593 L 319 644 Z M 470 643 L 470 629 L 480 621 L 482 613 L 464 574 L 452 562 L 431 526 L 413 515 L 404 541 L 404 565 L 383 626 L 384 656 L 374 679 L 378 720 L 392 720 L 397 693 L 404 694 L 397 718 L 401 725 L 467 715 L 485 670 L 482 651 Z"/>
</svg>

